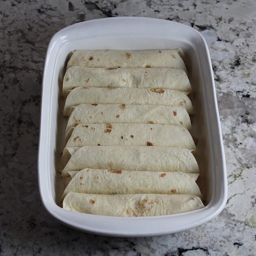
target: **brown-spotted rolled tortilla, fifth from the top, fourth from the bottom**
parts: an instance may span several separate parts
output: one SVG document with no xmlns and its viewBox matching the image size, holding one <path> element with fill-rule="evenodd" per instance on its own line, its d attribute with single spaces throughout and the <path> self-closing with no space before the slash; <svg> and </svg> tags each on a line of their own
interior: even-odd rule
<svg viewBox="0 0 256 256">
<path fill-rule="evenodd" d="M 189 131 L 169 124 L 78 124 L 66 147 L 95 146 L 165 146 L 196 150 Z M 67 137 L 68 139 L 68 137 Z"/>
</svg>

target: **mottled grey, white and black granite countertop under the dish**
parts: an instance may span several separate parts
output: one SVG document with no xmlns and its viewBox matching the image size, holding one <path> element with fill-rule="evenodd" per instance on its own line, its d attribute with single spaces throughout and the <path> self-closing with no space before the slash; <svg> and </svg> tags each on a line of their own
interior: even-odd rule
<svg viewBox="0 0 256 256">
<path fill-rule="evenodd" d="M 255 0 L 0 0 L 0 255 L 253 255 L 256 252 Z M 215 219 L 148 238 L 85 234 L 53 219 L 37 184 L 41 79 L 61 28 L 111 16 L 156 17 L 198 30 L 208 43 L 228 172 Z"/>
</svg>

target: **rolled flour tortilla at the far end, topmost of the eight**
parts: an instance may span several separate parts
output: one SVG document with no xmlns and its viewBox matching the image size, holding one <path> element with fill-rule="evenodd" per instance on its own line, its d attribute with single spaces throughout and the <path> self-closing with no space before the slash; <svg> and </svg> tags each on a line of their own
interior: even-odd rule
<svg viewBox="0 0 256 256">
<path fill-rule="evenodd" d="M 180 49 L 174 50 L 76 50 L 67 69 L 83 67 L 172 67 L 186 70 Z"/>
</svg>

